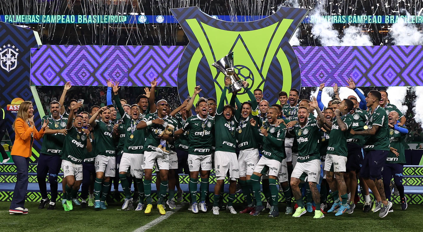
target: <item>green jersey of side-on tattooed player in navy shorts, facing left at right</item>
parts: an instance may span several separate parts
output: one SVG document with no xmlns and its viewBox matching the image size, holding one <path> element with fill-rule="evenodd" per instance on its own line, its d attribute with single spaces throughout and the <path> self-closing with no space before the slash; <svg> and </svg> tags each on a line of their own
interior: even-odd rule
<svg viewBox="0 0 423 232">
<path fill-rule="evenodd" d="M 376 134 L 368 137 L 364 144 L 364 151 L 389 151 L 388 116 L 385 109 L 379 105 L 370 114 L 367 124 L 368 129 L 371 129 L 373 125 L 379 126 L 379 129 L 376 131 Z"/>
</svg>

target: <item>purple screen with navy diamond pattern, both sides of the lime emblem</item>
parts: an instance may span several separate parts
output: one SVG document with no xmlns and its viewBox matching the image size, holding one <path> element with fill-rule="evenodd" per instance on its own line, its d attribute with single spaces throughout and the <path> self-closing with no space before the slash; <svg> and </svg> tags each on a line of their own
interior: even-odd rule
<svg viewBox="0 0 423 232">
<path fill-rule="evenodd" d="M 423 46 L 293 47 L 302 86 L 337 83 L 352 77 L 357 86 L 423 85 Z M 184 46 L 52 46 L 31 51 L 31 84 L 177 86 Z"/>
</svg>

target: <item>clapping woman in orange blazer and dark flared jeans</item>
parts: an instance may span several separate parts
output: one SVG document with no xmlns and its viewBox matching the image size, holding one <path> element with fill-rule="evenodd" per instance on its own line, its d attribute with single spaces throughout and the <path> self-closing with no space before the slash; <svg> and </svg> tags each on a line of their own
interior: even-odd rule
<svg viewBox="0 0 423 232">
<path fill-rule="evenodd" d="M 32 102 L 25 101 L 19 106 L 19 111 L 12 125 L 15 130 L 15 141 L 12 147 L 11 156 L 16 165 L 17 181 L 10 205 L 10 214 L 27 214 L 25 198 L 28 189 L 28 168 L 29 157 L 32 155 L 32 144 L 34 139 L 39 140 L 44 135 L 44 129 L 48 120 L 44 121 L 40 132 L 34 125 L 34 108 Z"/>
</svg>

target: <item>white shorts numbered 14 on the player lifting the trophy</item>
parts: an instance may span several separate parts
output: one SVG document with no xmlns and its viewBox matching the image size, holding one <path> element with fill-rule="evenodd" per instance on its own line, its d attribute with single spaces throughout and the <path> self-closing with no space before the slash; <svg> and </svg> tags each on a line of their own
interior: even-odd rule
<svg viewBox="0 0 423 232">
<path fill-rule="evenodd" d="M 216 180 L 225 180 L 228 171 L 231 180 L 236 181 L 236 179 L 239 179 L 239 165 L 238 159 L 236 159 L 236 153 L 215 151 L 214 172 L 216 173 Z"/>
</svg>

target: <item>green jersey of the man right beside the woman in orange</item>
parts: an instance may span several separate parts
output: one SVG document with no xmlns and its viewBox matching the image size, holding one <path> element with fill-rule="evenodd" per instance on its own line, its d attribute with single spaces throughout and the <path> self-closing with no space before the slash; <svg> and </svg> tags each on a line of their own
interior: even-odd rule
<svg viewBox="0 0 423 232">
<path fill-rule="evenodd" d="M 44 116 L 41 121 L 49 120 L 49 129 L 65 129 L 68 118 L 60 116 L 60 119 L 55 120 L 52 116 Z M 62 133 L 44 134 L 43 145 L 41 146 L 41 153 L 46 155 L 60 155 L 63 147 L 65 135 Z"/>
</svg>

